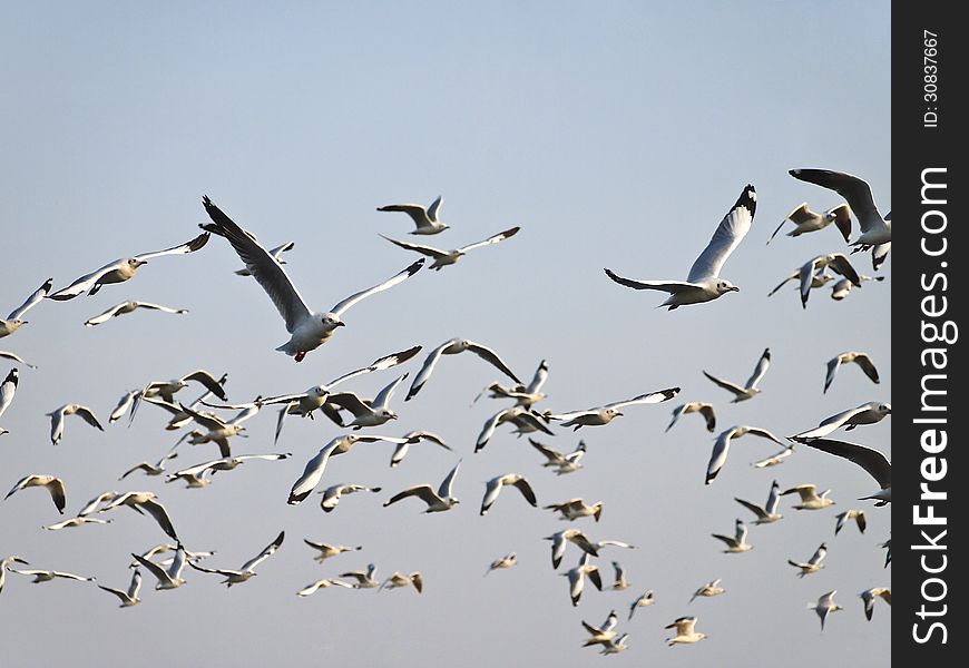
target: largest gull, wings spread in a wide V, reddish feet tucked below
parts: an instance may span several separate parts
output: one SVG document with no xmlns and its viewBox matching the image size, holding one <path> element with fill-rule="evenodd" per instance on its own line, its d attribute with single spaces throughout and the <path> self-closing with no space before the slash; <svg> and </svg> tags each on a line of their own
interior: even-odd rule
<svg viewBox="0 0 969 668">
<path fill-rule="evenodd" d="M 341 318 L 348 308 L 370 295 L 405 281 L 424 264 L 423 258 L 421 258 L 390 279 L 350 295 L 331 311 L 316 313 L 303 301 L 282 265 L 260 245 L 252 234 L 233 223 L 207 196 L 203 197 L 202 202 L 213 220 L 204 225 L 203 228 L 228 239 L 228 243 L 245 263 L 246 268 L 252 272 L 256 282 L 266 291 L 280 315 L 286 321 L 286 331 L 291 334 L 290 341 L 276 350 L 292 355 L 296 362 L 302 362 L 306 353 L 326 343 L 336 328 L 344 325 Z"/>
</svg>

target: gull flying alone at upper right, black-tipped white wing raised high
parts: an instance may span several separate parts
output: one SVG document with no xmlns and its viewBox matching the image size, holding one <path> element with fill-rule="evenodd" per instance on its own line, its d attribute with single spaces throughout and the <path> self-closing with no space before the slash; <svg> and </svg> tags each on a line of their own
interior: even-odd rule
<svg viewBox="0 0 969 668">
<path fill-rule="evenodd" d="M 730 257 L 731 253 L 740 245 L 744 236 L 751 229 L 754 220 L 754 212 L 757 208 L 757 194 L 752 185 L 747 185 L 736 204 L 721 220 L 716 232 L 696 262 L 689 268 L 686 281 L 634 281 L 623 278 L 610 269 L 605 269 L 606 275 L 626 287 L 634 289 L 659 289 L 668 292 L 667 298 L 660 306 L 669 306 L 669 311 L 685 306 L 686 304 L 699 304 L 716 299 L 730 292 L 740 292 L 741 288 L 730 281 L 720 277 L 720 271 Z"/>
</svg>

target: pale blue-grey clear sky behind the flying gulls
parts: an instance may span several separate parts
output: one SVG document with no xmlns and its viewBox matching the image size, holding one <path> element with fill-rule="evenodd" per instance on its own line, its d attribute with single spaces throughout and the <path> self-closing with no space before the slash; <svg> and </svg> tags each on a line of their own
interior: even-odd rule
<svg viewBox="0 0 969 668">
<path fill-rule="evenodd" d="M 891 583 L 878 547 L 889 538 L 891 508 L 858 500 L 873 491 L 868 474 L 809 448 L 780 466 L 754 469 L 751 462 L 777 448 L 747 436 L 704 485 L 715 434 L 695 415 L 664 432 L 672 410 L 687 401 L 715 404 L 717 432 L 752 424 L 781 435 L 891 401 L 891 256 L 878 272 L 883 282 L 843 302 L 819 289 L 802 308 L 793 284 L 766 296 L 812 256 L 848 249 L 833 228 L 766 245 L 801 202 L 815 210 L 841 202 L 789 169 L 855 174 L 871 184 L 882 213 L 891 209 L 888 2 L 39 2 L 6 7 L 0 26 L 2 315 L 48 277 L 59 288 L 116 258 L 196 236 L 207 222 L 203 195 L 266 246 L 295 242 L 286 271 L 317 311 L 417 258 L 378 234 L 453 248 L 521 228 L 355 305 L 346 326 L 300 364 L 274 351 L 288 337 L 283 321 L 254 281 L 233 274 L 241 262 L 218 237 L 198 253 L 154 259 L 95 296 L 30 311 L 28 325 L 0 340 L 0 350 L 38 366 L 16 365 L 20 384 L 0 418 L 10 431 L 0 436 L 0 484 L 60 475 L 68 508 L 58 515 L 42 490 L 0 502 L 0 558 L 19 554 L 33 568 L 127 587 L 130 553 L 166 540 L 149 519 L 119 510 L 108 525 L 41 529 L 104 490 L 155 491 L 189 550 L 216 551 L 211 568 L 237 568 L 281 530 L 286 538 L 258 577 L 228 590 L 216 576 L 186 569 L 184 587 L 155 591 L 146 573 L 141 603 L 130 609 L 88 583 L 32 584 L 8 573 L 0 638 L 10 665 L 890 660 L 891 609 L 879 601 L 867 621 L 858 598 Z M 669 312 L 657 308 L 663 294 L 604 275 L 609 267 L 684 279 L 747 184 L 757 191 L 754 223 L 722 272 L 741 292 Z M 451 228 L 437 236 L 409 236 L 403 214 L 375 210 L 438 195 Z M 874 273 L 868 255 L 852 262 Z M 126 299 L 189 313 L 138 312 L 82 326 Z M 196 369 L 227 373 L 229 400 L 244 402 L 302 392 L 423 346 L 408 364 L 345 386 L 372 396 L 404 372 L 409 386 L 424 355 L 454 336 L 492 347 L 522 380 L 546 360 L 548 399 L 539 410 L 682 392 L 630 406 L 607 426 L 572 433 L 554 425 L 547 444 L 570 451 L 581 438 L 588 448 L 580 471 L 555 477 L 507 426 L 472 452 L 481 425 L 508 402 L 471 402 L 501 376 L 478 357 L 446 357 L 418 396 L 394 396 L 398 421 L 368 431 L 429 430 L 453 452 L 420 444 L 390 469 L 392 445 L 358 444 L 330 463 L 319 489 L 349 482 L 383 491 L 346 497 L 329 514 L 316 495 L 285 503 L 306 461 L 345 433 L 322 416 L 288 420 L 274 446 L 276 412 L 261 412 L 233 452 L 292 456 L 246 463 L 199 490 L 163 477 L 118 481 L 180 435 L 164 431 L 167 416 L 150 406 L 130 428 L 121 421 L 104 432 L 69 418 L 63 441 L 49 440 L 45 414 L 61 404 L 89 405 L 106 422 L 126 391 Z M 731 404 L 702 374 L 743 382 L 765 347 L 772 365 L 751 401 Z M 849 350 L 871 354 L 881 383 L 845 367 L 822 394 L 825 362 Z M 2 362 L 6 375 L 14 364 Z M 834 438 L 890 456 L 890 429 L 889 418 Z M 212 445 L 183 444 L 169 470 L 215 456 Z M 381 507 L 409 485 L 437 487 L 458 460 L 462 503 L 454 510 L 427 515 L 414 500 Z M 484 481 L 510 472 L 528 478 L 539 508 L 506 490 L 479 517 Z M 797 511 L 784 497 L 784 519 L 755 527 L 734 498 L 763 503 L 775 479 L 784 489 L 830 488 L 836 504 Z M 605 504 L 601 521 L 576 527 L 595 540 L 638 546 L 608 548 L 595 560 L 607 581 L 618 560 L 629 589 L 587 589 L 576 607 L 542 540 L 567 523 L 541 509 L 574 497 Z M 835 537 L 834 515 L 850 508 L 867 511 L 868 530 L 850 525 Z M 732 533 L 736 518 L 748 522 L 754 549 L 724 554 L 711 534 Z M 321 566 L 303 539 L 363 549 Z M 826 567 L 797 578 L 786 560 L 806 560 L 821 542 Z M 482 577 L 509 551 L 518 566 Z M 557 572 L 577 559 L 569 548 Z M 422 572 L 423 593 L 331 588 L 295 596 L 370 562 L 380 579 Z M 726 593 L 689 602 L 714 578 Z M 627 621 L 629 603 L 647 589 L 655 605 Z M 822 632 L 806 603 L 832 589 L 845 610 Z M 613 609 L 629 649 L 599 657 L 581 647 L 580 621 L 598 625 Z M 709 637 L 666 647 L 664 627 L 689 615 Z"/>
</svg>

